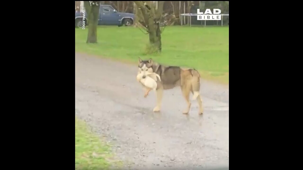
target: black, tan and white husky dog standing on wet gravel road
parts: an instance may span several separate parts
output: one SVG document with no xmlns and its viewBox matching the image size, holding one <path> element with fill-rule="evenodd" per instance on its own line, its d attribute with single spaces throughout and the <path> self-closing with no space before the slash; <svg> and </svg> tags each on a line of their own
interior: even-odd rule
<svg viewBox="0 0 303 170">
<path fill-rule="evenodd" d="M 199 114 L 203 114 L 202 100 L 200 96 L 200 74 L 195 69 L 185 69 L 178 66 L 163 66 L 154 63 L 152 59 L 142 60 L 139 58 L 138 74 L 144 72 L 156 73 L 160 76 L 161 81 L 157 82 L 156 95 L 157 105 L 154 112 L 161 109 L 161 100 L 163 90 L 181 87 L 182 94 L 186 100 L 187 107 L 183 114 L 188 114 L 191 103 L 189 101 L 190 92 L 193 94 L 193 100 L 197 100 L 199 105 Z M 160 78 L 158 78 L 160 80 Z"/>
</svg>

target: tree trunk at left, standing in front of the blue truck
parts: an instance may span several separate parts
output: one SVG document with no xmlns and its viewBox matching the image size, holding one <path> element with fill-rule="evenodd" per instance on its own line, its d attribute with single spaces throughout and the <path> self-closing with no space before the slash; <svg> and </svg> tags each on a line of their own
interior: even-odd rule
<svg viewBox="0 0 303 170">
<path fill-rule="evenodd" d="M 88 19 L 88 35 L 86 43 L 97 43 L 97 26 L 99 19 L 100 1 L 93 2 L 98 3 L 98 5 L 91 4 L 89 1 L 84 1 Z"/>
</svg>

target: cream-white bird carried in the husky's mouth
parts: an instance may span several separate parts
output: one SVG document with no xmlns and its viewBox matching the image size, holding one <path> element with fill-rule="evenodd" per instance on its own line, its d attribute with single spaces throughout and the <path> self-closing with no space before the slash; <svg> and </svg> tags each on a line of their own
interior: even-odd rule
<svg viewBox="0 0 303 170">
<path fill-rule="evenodd" d="M 156 73 L 150 73 L 150 72 L 146 72 L 146 71 L 140 71 L 138 72 L 137 75 L 137 81 L 142 83 L 142 85 L 145 87 L 145 94 L 144 97 L 146 97 L 148 95 L 148 93 L 151 90 L 155 90 L 157 89 L 157 77 L 159 79 L 159 81 L 161 81 L 161 78 L 158 74 Z"/>
</svg>

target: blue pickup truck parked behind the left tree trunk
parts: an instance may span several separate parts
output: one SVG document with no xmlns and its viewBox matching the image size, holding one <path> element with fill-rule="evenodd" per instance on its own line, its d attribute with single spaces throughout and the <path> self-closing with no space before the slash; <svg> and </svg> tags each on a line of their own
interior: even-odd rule
<svg viewBox="0 0 303 170">
<path fill-rule="evenodd" d="M 131 26 L 134 19 L 135 15 L 132 13 L 118 12 L 111 5 L 100 5 L 98 25 Z M 82 27 L 82 21 L 88 25 L 86 12 L 85 18 L 81 12 L 75 12 L 75 27 Z"/>
</svg>

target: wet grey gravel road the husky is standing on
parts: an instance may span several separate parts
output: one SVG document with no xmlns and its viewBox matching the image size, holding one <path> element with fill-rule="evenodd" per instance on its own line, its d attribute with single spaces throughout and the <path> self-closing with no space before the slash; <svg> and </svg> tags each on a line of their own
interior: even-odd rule
<svg viewBox="0 0 303 170">
<path fill-rule="evenodd" d="M 144 98 L 136 65 L 75 54 L 75 115 L 105 137 L 125 169 L 209 169 L 229 165 L 229 90 L 201 80 L 204 114 L 180 87 Z"/>
</svg>

